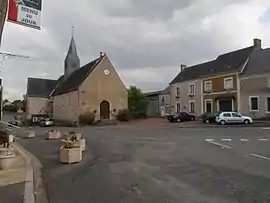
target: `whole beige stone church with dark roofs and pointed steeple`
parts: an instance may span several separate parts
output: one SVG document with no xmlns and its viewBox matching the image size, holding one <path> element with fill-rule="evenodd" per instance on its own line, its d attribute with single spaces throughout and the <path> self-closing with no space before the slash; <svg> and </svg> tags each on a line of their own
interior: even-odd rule
<svg viewBox="0 0 270 203">
<path fill-rule="evenodd" d="M 94 112 L 96 120 L 110 120 L 127 108 L 126 87 L 105 53 L 80 67 L 72 36 L 64 64 L 58 80 L 28 78 L 26 120 L 36 123 L 50 117 L 75 122 L 86 112 Z"/>
</svg>

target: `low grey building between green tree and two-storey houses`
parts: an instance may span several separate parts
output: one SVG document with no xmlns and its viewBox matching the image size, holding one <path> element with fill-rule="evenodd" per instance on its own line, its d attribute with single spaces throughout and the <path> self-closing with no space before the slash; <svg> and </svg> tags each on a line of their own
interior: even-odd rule
<svg viewBox="0 0 270 203">
<path fill-rule="evenodd" d="M 164 90 L 148 92 L 147 117 L 159 117 L 170 114 L 170 87 Z"/>
</svg>

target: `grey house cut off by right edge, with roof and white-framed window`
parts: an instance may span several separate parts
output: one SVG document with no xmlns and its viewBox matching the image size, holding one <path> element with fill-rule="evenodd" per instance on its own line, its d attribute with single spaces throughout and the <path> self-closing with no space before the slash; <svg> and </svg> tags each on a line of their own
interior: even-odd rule
<svg viewBox="0 0 270 203">
<path fill-rule="evenodd" d="M 251 54 L 240 74 L 239 110 L 253 118 L 270 116 L 270 48 Z"/>
</svg>

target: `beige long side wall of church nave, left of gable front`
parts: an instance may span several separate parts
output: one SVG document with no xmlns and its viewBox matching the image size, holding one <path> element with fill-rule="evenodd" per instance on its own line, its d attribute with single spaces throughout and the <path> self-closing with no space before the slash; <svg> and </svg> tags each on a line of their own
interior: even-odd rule
<svg viewBox="0 0 270 203">
<path fill-rule="evenodd" d="M 53 98 L 54 119 L 76 121 L 79 116 L 78 91 L 67 92 Z"/>
</svg>

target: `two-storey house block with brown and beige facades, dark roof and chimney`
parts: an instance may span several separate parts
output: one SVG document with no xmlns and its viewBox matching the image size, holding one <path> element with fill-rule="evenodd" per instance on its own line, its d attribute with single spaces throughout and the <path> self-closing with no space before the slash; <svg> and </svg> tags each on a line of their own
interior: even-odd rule
<svg viewBox="0 0 270 203">
<path fill-rule="evenodd" d="M 200 115 L 204 112 L 239 111 L 240 80 L 253 52 L 261 50 L 261 40 L 253 46 L 219 55 L 215 60 L 183 67 L 170 83 L 174 111 Z"/>
</svg>

